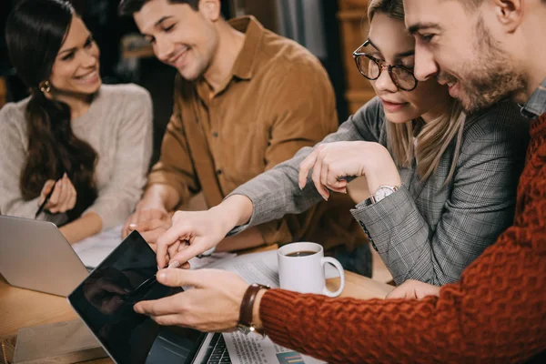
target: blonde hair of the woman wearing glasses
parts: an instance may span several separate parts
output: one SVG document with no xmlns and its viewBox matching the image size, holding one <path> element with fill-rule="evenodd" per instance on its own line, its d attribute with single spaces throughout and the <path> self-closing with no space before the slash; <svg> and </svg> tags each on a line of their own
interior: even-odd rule
<svg viewBox="0 0 546 364">
<path fill-rule="evenodd" d="M 370 23 L 374 15 L 378 13 L 403 22 L 404 5 L 402 0 L 370 0 L 368 6 Z M 460 103 L 453 99 L 450 107 L 441 116 L 428 123 L 424 123 L 420 117 L 404 124 L 394 124 L 388 121 L 387 140 L 394 162 L 398 167 L 411 167 L 413 160 L 416 159 L 419 161 L 417 174 L 424 181 L 436 172 L 441 156 L 450 147 L 452 140 L 456 138 L 450 173 L 443 185 L 446 186 L 455 173 L 465 119 L 466 116 Z M 416 132 L 417 136 L 415 136 Z"/>
</svg>

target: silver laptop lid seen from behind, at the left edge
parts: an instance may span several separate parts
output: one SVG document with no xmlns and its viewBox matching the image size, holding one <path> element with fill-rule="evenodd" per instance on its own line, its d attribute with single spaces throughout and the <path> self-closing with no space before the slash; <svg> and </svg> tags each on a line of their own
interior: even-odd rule
<svg viewBox="0 0 546 364">
<path fill-rule="evenodd" d="M 66 297 L 88 271 L 55 224 L 0 216 L 0 273 L 12 286 Z"/>
</svg>

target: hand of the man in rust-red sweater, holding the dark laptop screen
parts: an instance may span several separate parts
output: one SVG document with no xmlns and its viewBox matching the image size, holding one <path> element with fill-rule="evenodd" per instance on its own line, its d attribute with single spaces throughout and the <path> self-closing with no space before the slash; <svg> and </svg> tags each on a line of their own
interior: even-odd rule
<svg viewBox="0 0 546 364">
<path fill-rule="evenodd" d="M 204 332 L 231 331 L 237 327 L 248 283 L 235 273 L 217 269 L 163 269 L 157 281 L 168 287 L 192 286 L 177 295 L 141 301 L 135 311 L 159 325 L 183 326 Z"/>
</svg>

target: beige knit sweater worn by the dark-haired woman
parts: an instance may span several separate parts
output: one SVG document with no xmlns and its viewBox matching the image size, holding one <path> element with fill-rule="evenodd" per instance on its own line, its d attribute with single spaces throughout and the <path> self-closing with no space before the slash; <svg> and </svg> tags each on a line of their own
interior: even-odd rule
<svg viewBox="0 0 546 364">
<path fill-rule="evenodd" d="M 19 189 L 28 150 L 28 100 L 0 110 L 0 213 L 34 218 L 37 197 L 25 201 Z M 152 152 L 151 98 L 136 85 L 101 86 L 86 114 L 72 120 L 72 129 L 98 155 L 98 197 L 86 212 L 96 212 L 103 228 L 115 227 L 133 211 L 146 183 Z M 38 218 L 52 220 L 48 214 Z"/>
</svg>

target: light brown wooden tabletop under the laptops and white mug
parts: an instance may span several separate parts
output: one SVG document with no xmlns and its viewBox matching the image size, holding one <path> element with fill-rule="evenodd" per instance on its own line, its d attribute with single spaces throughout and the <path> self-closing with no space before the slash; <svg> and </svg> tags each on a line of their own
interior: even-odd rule
<svg viewBox="0 0 546 364">
<path fill-rule="evenodd" d="M 328 279 L 329 289 L 339 287 L 339 278 Z M 385 298 L 394 287 L 379 281 L 345 272 L 345 288 L 340 297 L 360 299 Z M 18 329 L 77 319 L 66 298 L 15 288 L 0 276 L 0 340 L 14 336 Z M 97 359 L 86 363 L 111 363 Z"/>
</svg>

